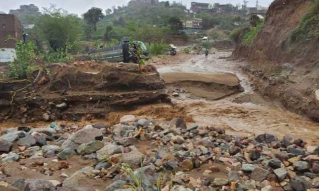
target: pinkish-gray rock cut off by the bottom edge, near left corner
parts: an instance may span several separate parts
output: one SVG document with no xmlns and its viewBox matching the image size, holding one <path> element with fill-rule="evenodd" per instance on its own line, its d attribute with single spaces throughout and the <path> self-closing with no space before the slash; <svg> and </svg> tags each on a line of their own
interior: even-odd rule
<svg viewBox="0 0 319 191">
<path fill-rule="evenodd" d="M 55 186 L 44 180 L 26 180 L 22 191 L 56 191 Z"/>
</svg>

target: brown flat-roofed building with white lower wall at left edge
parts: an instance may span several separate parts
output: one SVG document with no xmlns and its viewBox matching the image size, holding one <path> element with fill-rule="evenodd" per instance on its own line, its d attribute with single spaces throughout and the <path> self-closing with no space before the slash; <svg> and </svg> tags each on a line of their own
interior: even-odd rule
<svg viewBox="0 0 319 191">
<path fill-rule="evenodd" d="M 20 20 L 12 14 L 0 14 L 0 64 L 15 58 L 15 44 L 22 40 Z"/>
</svg>

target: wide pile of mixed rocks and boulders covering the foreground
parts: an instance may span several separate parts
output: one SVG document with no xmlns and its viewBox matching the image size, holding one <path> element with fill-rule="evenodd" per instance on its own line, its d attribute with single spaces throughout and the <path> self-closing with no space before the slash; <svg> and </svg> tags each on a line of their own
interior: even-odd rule
<svg viewBox="0 0 319 191">
<path fill-rule="evenodd" d="M 319 191 L 319 147 L 302 139 L 231 136 L 215 127 L 187 127 L 182 119 L 120 121 L 2 132 L 0 190 L 80 191 L 88 179 L 92 185 L 84 190 L 90 191 L 101 190 L 94 188 L 98 180 L 105 191 L 131 191 L 128 185 L 144 191 Z M 72 156 L 93 163 L 68 175 Z M 58 172 L 59 179 L 16 176 L 27 170 L 46 177 Z"/>
</svg>

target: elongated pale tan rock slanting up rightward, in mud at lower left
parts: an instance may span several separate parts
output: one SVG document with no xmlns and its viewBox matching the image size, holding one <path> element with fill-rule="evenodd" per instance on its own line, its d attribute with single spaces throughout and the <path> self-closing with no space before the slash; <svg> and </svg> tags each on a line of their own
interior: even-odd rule
<svg viewBox="0 0 319 191">
<path fill-rule="evenodd" d="M 63 182 L 63 187 L 74 188 L 79 186 L 79 182 L 82 179 L 86 179 L 88 175 L 94 170 L 93 167 L 85 167 L 75 172 L 71 177 L 67 178 Z"/>
</svg>

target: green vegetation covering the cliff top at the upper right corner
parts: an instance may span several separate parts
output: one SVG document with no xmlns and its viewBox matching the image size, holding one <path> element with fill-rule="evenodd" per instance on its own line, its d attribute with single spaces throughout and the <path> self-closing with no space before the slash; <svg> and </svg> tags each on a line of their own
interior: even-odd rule
<svg viewBox="0 0 319 191">
<path fill-rule="evenodd" d="M 319 40 L 319 0 L 311 3 L 309 11 L 292 33 L 292 42 Z"/>
</svg>

